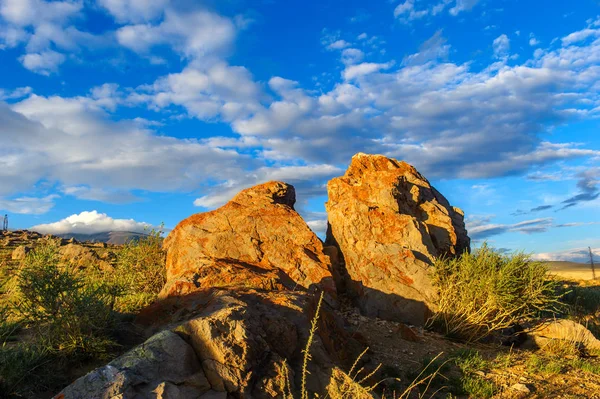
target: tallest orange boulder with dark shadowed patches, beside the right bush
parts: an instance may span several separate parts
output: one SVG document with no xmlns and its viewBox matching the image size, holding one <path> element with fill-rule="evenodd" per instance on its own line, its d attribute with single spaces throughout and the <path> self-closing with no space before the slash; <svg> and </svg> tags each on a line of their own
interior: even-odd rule
<svg viewBox="0 0 600 399">
<path fill-rule="evenodd" d="M 435 257 L 469 250 L 463 212 L 414 167 L 381 155 L 356 154 L 327 191 L 327 243 L 361 310 L 423 324 L 435 310 Z"/>
</svg>

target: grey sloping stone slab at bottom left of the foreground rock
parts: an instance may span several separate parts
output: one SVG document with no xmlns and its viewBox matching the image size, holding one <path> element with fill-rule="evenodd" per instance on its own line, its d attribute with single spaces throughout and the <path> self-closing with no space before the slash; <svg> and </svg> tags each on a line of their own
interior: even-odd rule
<svg viewBox="0 0 600 399">
<path fill-rule="evenodd" d="M 200 397 L 210 389 L 193 348 L 165 330 L 77 379 L 55 399 L 183 399 Z"/>
</svg>

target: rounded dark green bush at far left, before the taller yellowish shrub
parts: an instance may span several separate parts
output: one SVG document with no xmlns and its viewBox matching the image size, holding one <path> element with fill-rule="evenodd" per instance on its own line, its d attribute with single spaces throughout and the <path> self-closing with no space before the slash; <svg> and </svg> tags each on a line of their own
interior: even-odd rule
<svg viewBox="0 0 600 399">
<path fill-rule="evenodd" d="M 84 281 L 59 266 L 56 247 L 32 251 L 18 276 L 16 308 L 43 342 L 61 355 L 98 356 L 112 346 L 118 290 Z"/>
</svg>

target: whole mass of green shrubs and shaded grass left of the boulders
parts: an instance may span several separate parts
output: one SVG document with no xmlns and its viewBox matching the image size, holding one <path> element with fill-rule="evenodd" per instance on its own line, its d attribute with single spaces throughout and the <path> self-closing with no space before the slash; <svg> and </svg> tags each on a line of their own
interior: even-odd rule
<svg viewBox="0 0 600 399">
<path fill-rule="evenodd" d="M 2 270 L 0 397 L 36 397 L 72 379 L 68 370 L 122 351 L 124 313 L 155 300 L 164 283 L 161 232 L 116 250 L 115 268 L 73 269 L 53 240 Z"/>
</svg>

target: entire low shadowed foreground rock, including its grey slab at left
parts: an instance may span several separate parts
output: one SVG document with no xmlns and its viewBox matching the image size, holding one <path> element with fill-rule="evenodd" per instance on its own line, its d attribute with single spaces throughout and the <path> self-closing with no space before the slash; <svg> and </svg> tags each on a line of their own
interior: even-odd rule
<svg viewBox="0 0 600 399">
<path fill-rule="evenodd" d="M 138 322 L 166 330 L 57 398 L 282 397 L 286 383 L 292 391 L 301 384 L 316 299 L 306 292 L 218 288 L 165 299 L 143 310 Z M 333 313 L 322 309 L 308 390 L 333 389 L 332 375 L 340 377 L 336 365 L 348 368 L 362 349 L 357 345 Z"/>
</svg>

